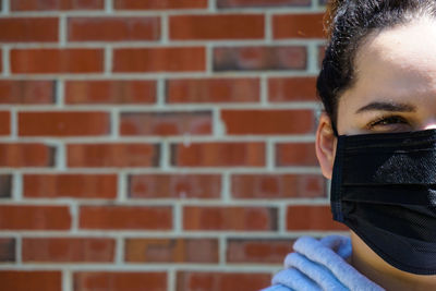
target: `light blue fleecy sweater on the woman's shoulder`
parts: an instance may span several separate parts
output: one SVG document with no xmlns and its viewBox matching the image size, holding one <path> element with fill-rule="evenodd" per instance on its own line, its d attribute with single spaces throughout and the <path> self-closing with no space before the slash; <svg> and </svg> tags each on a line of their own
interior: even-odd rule
<svg viewBox="0 0 436 291">
<path fill-rule="evenodd" d="M 329 235 L 319 241 L 303 237 L 293 245 L 294 253 L 284 259 L 284 269 L 263 291 L 382 291 L 346 259 L 351 256 L 347 237 Z"/>
</svg>

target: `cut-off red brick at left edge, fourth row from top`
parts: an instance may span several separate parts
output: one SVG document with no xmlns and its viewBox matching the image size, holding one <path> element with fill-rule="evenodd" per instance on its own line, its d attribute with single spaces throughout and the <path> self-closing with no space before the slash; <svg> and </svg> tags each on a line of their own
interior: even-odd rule
<svg viewBox="0 0 436 291">
<path fill-rule="evenodd" d="M 0 80 L 0 104 L 2 105 L 47 105 L 53 102 L 53 81 Z"/>
</svg>

